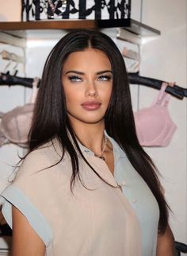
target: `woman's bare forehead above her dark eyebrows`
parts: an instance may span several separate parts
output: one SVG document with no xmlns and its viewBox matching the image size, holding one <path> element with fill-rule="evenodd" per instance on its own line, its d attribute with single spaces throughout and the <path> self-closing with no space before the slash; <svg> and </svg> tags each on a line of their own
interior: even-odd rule
<svg viewBox="0 0 187 256">
<path fill-rule="evenodd" d="M 72 52 L 65 61 L 63 69 L 75 68 L 91 69 L 91 68 L 108 68 L 111 69 L 111 64 L 105 52 L 94 48 L 87 48 L 83 51 Z"/>
</svg>

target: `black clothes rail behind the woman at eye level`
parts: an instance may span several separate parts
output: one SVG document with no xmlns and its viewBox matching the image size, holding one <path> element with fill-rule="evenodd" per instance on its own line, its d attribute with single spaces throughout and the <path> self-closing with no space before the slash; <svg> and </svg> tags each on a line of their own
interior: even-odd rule
<svg viewBox="0 0 187 256">
<path fill-rule="evenodd" d="M 144 77 L 139 76 L 138 73 L 128 73 L 128 80 L 131 84 L 140 84 L 147 87 L 152 87 L 157 90 L 160 90 L 162 83 L 164 81 L 162 80 L 156 80 L 150 77 Z M 1 73 L 0 72 L 0 86 L 1 85 L 22 85 L 24 87 L 32 88 L 32 83 L 34 82 L 33 78 L 27 78 L 27 77 L 19 77 L 19 76 L 11 76 L 10 72 Z M 40 80 L 38 83 L 38 87 L 40 87 Z M 179 87 L 177 85 L 174 85 L 174 87 L 170 87 L 169 85 L 166 87 L 166 92 L 168 92 L 170 95 L 173 95 L 177 99 L 183 99 L 184 97 L 187 97 L 187 88 Z"/>
</svg>

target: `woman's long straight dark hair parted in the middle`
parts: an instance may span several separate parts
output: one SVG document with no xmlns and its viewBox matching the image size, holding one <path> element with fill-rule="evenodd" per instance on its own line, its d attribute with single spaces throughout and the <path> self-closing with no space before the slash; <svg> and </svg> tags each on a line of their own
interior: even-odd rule
<svg viewBox="0 0 187 256">
<path fill-rule="evenodd" d="M 81 156 L 82 153 L 67 117 L 61 76 L 67 56 L 71 52 L 82 51 L 86 48 L 99 49 L 109 57 L 113 70 L 113 91 L 105 114 L 105 130 L 124 150 L 135 170 L 151 188 L 160 210 L 158 230 L 163 232 L 167 226 L 168 207 L 159 185 L 157 169 L 139 145 L 135 134 L 131 95 L 123 56 L 113 40 L 104 33 L 95 30 L 72 31 L 67 33 L 50 52 L 44 65 L 40 90 L 36 99 L 32 129 L 29 134 L 29 152 L 53 138 L 58 138 L 63 153 L 66 151 L 71 157 L 71 186 L 74 184 L 75 176 L 79 177 L 78 153 Z M 86 161 L 84 157 L 83 159 Z M 89 165 L 88 162 L 87 164 Z"/>
</svg>

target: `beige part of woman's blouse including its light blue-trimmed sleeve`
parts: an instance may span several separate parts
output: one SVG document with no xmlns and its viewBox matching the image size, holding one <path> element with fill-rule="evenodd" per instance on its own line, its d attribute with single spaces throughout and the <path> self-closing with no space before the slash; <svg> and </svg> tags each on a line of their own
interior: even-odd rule
<svg viewBox="0 0 187 256">
<path fill-rule="evenodd" d="M 90 165 L 117 185 L 105 161 L 82 151 Z M 120 188 L 105 184 L 82 159 L 81 182 L 70 189 L 71 161 L 59 161 L 59 144 L 48 143 L 25 158 L 13 184 L 2 196 L 3 214 L 12 226 L 15 205 L 43 239 L 48 256 L 140 256 L 139 221 Z"/>
</svg>

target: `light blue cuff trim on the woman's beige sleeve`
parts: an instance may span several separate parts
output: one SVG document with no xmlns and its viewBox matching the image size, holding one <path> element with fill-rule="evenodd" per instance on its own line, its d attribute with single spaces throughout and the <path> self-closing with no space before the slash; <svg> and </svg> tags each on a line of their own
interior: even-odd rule
<svg viewBox="0 0 187 256">
<path fill-rule="evenodd" d="M 28 219 L 33 230 L 44 241 L 45 246 L 52 242 L 52 230 L 44 215 L 29 201 L 29 199 L 15 185 L 6 188 L 1 196 L 5 199 L 2 204 L 2 214 L 6 222 L 12 228 L 12 205 L 14 205 L 26 219 Z"/>
</svg>

